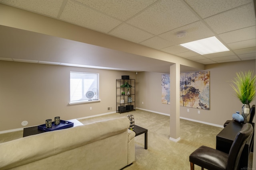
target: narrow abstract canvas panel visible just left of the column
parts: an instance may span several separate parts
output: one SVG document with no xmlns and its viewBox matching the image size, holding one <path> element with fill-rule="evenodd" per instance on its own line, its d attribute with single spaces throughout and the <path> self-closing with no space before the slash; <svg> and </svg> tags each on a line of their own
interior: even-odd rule
<svg viewBox="0 0 256 170">
<path fill-rule="evenodd" d="M 170 104 L 170 74 L 162 74 L 162 104 Z"/>
</svg>

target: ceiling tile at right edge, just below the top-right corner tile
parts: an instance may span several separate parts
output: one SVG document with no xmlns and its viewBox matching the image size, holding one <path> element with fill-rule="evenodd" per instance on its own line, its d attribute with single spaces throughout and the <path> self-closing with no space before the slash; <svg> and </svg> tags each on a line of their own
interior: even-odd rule
<svg viewBox="0 0 256 170">
<path fill-rule="evenodd" d="M 206 18 L 204 21 L 206 21 L 206 23 L 218 34 L 253 26 L 255 25 L 253 4 L 250 3 L 222 12 Z"/>
</svg>

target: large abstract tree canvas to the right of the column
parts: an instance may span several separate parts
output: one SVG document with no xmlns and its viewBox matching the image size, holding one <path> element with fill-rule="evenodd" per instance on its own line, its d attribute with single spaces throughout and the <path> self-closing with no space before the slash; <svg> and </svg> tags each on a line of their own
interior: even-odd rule
<svg viewBox="0 0 256 170">
<path fill-rule="evenodd" d="M 180 74 L 180 106 L 210 109 L 210 72 Z"/>
</svg>

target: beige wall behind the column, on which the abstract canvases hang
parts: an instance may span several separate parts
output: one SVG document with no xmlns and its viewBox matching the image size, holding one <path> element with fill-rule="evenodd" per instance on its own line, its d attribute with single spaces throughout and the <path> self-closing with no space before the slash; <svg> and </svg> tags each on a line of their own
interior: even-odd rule
<svg viewBox="0 0 256 170">
<path fill-rule="evenodd" d="M 210 110 L 180 106 L 180 117 L 222 126 L 226 120 L 232 119 L 233 113 L 241 112 L 242 107 L 241 102 L 234 97 L 229 81 L 239 71 L 253 70 L 255 74 L 255 61 L 209 64 L 206 65 L 206 70 L 210 71 Z M 138 73 L 140 95 L 136 107 L 170 115 L 170 105 L 161 103 L 161 75 L 162 73 L 155 72 Z M 250 105 L 253 104 L 255 101 Z M 190 111 L 187 112 L 187 109 Z"/>
</svg>

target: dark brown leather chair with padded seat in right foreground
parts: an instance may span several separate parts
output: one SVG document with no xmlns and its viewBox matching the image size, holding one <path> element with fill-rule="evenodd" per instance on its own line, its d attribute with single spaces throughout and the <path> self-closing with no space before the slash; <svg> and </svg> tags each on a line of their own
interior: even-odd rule
<svg viewBox="0 0 256 170">
<path fill-rule="evenodd" d="M 189 156 L 190 169 L 194 170 L 194 164 L 208 170 L 237 170 L 240 156 L 247 139 L 253 132 L 250 123 L 244 124 L 241 131 L 237 133 L 230 148 L 229 154 L 210 147 L 201 146 Z"/>
</svg>

